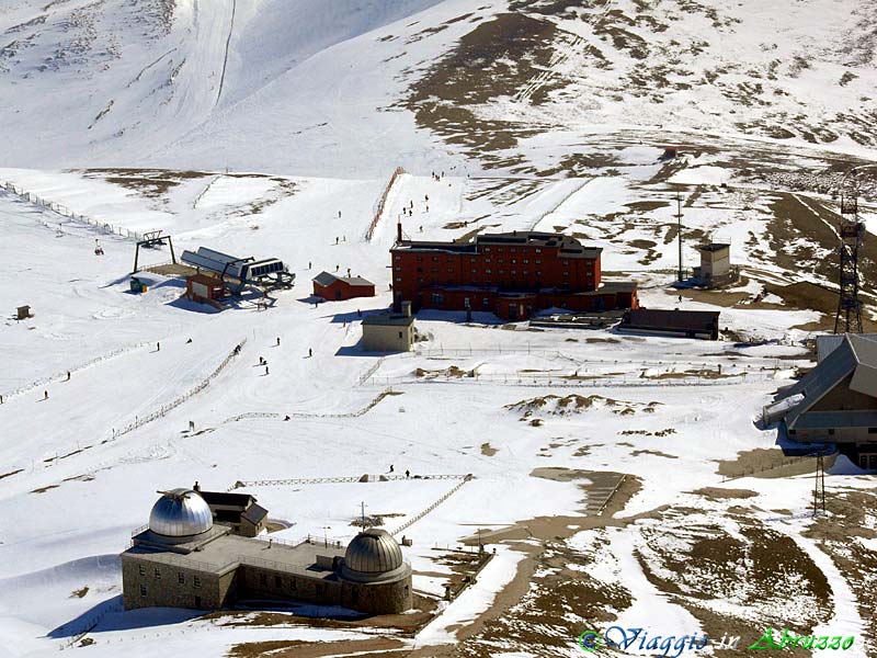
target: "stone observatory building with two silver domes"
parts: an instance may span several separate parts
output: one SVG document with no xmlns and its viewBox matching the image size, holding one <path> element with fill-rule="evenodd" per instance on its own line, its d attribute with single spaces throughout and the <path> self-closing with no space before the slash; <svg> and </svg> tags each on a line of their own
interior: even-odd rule
<svg viewBox="0 0 877 658">
<path fill-rule="evenodd" d="M 411 566 L 384 530 L 365 530 L 346 548 L 338 542 L 251 538 L 214 523 L 215 512 L 198 491 L 160 494 L 149 525 L 134 532 L 122 554 L 126 610 L 213 610 L 248 599 L 342 605 L 368 614 L 411 608 Z"/>
</svg>

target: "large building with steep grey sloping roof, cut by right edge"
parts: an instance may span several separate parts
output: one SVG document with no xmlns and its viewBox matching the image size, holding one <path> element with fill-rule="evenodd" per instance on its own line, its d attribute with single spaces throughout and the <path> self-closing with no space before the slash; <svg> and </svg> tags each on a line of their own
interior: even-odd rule
<svg viewBox="0 0 877 658">
<path fill-rule="evenodd" d="M 877 341 L 847 333 L 800 381 L 765 408 L 790 442 L 833 444 L 877 468 Z"/>
</svg>

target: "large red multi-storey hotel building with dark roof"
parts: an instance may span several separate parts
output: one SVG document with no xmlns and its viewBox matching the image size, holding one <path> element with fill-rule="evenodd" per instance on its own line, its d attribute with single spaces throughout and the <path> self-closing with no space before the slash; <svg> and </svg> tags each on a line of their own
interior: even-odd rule
<svg viewBox="0 0 877 658">
<path fill-rule="evenodd" d="M 402 240 L 392 258 L 394 305 L 414 310 L 486 310 L 509 320 L 559 307 L 570 311 L 638 308 L 636 283 L 601 285 L 599 247 L 560 234 L 512 231 L 469 242 Z"/>
</svg>

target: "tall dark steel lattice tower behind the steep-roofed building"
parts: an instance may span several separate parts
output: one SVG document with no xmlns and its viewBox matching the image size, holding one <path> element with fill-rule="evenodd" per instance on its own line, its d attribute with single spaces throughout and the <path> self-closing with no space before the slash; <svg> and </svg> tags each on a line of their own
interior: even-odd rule
<svg viewBox="0 0 877 658">
<path fill-rule="evenodd" d="M 862 333 L 862 306 L 858 300 L 858 251 L 865 237 L 865 225 L 858 219 L 856 190 L 841 191 L 840 288 L 834 333 Z"/>
</svg>

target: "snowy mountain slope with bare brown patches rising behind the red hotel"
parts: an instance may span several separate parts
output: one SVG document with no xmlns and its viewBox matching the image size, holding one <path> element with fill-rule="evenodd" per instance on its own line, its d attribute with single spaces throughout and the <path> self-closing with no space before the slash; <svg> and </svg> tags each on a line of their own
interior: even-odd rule
<svg viewBox="0 0 877 658">
<path fill-rule="evenodd" d="M 574 170 L 570 136 L 623 128 L 868 156 L 876 13 L 873 0 L 20 0 L 0 12 L 0 163 L 358 175 L 464 151 Z"/>
</svg>

